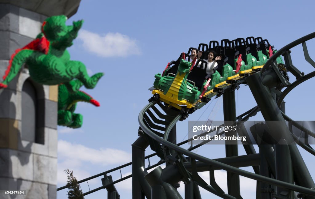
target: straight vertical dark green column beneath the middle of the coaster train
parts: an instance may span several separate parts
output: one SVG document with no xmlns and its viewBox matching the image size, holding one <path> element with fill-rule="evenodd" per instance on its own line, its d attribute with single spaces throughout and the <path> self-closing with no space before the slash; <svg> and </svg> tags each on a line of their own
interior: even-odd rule
<svg viewBox="0 0 315 199">
<path fill-rule="evenodd" d="M 233 125 L 236 122 L 235 91 L 226 90 L 223 93 L 224 124 Z M 227 132 L 226 136 L 236 135 L 236 132 Z M 238 156 L 237 140 L 228 140 L 225 145 L 226 157 Z M 226 172 L 227 192 L 232 196 L 240 196 L 239 175 Z"/>
</svg>

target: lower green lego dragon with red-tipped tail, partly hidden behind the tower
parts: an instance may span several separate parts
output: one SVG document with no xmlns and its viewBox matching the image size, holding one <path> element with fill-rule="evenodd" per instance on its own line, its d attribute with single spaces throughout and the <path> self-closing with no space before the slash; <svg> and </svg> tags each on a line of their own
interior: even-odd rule
<svg viewBox="0 0 315 199">
<path fill-rule="evenodd" d="M 72 85 L 80 88 L 83 83 L 79 80 L 70 81 Z M 69 92 L 65 84 L 58 87 L 58 125 L 70 128 L 80 128 L 83 123 L 83 116 L 74 113 L 77 102 L 89 102 L 97 107 L 100 103 L 83 91 Z"/>
</svg>

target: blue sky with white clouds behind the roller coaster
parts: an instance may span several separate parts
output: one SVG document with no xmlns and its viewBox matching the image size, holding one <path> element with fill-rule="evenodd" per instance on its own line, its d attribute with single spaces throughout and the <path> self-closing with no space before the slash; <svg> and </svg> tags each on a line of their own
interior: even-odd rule
<svg viewBox="0 0 315 199">
<path fill-rule="evenodd" d="M 138 114 L 152 96 L 148 88 L 154 75 L 167 63 L 176 60 L 189 47 L 210 40 L 261 36 L 276 49 L 314 32 L 312 1 L 101 1 L 82 0 L 73 20 L 84 19 L 78 38 L 69 48 L 72 60 L 82 61 L 90 75 L 105 75 L 93 90 L 82 88 L 100 102 L 100 107 L 79 102 L 76 113 L 83 115 L 79 129 L 58 127 L 58 187 L 66 184 L 65 169 L 73 170 L 78 180 L 131 161 L 131 144 L 137 139 Z M 315 39 L 313 39 L 315 40 Z M 307 42 L 314 55 L 314 41 Z M 292 50 L 293 64 L 301 71 L 307 65 L 301 45 Z M 294 79 L 290 76 L 290 81 Z M 314 80 L 295 88 L 286 98 L 286 112 L 295 120 L 314 120 Z M 248 86 L 236 91 L 238 114 L 256 105 Z M 216 101 L 196 111 L 177 124 L 178 142 L 188 132 L 188 120 L 223 120 L 222 103 L 211 113 Z M 209 106 L 209 107 L 208 107 Z M 311 111 L 309 111 L 311 110 Z M 216 112 L 216 114 L 215 114 Z M 211 113 L 211 114 L 210 114 Z M 262 119 L 261 115 L 256 120 Z M 188 147 L 188 145 L 186 146 Z M 208 145 L 196 151 L 208 158 L 224 157 L 224 145 Z M 311 155 L 301 151 L 306 164 L 314 163 Z M 151 154 L 146 150 L 146 154 Z M 239 146 L 239 154 L 244 154 Z M 151 164 L 155 163 L 151 160 Z M 248 168 L 250 170 L 250 168 Z M 122 170 L 131 174 L 131 167 Z M 205 179 L 208 174 L 201 174 Z M 312 173 L 313 175 L 313 173 Z M 113 179 L 120 177 L 112 173 Z M 225 172 L 216 172 L 217 181 L 226 191 Z M 254 198 L 251 180 L 241 178 L 244 198 Z M 100 178 L 89 181 L 90 189 L 101 186 Z M 83 192 L 89 191 L 87 184 Z M 184 185 L 181 183 L 180 192 Z M 131 198 L 131 180 L 117 184 L 121 198 Z M 207 196 L 202 191 L 203 196 Z M 105 190 L 85 196 L 101 198 Z M 67 198 L 66 191 L 57 192 L 58 199 Z M 215 197 L 212 197 L 215 198 Z"/>
</svg>

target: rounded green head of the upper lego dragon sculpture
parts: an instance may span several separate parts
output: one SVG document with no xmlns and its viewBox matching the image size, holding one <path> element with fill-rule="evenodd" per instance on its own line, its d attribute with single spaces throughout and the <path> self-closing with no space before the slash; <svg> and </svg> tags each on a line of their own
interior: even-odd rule
<svg viewBox="0 0 315 199">
<path fill-rule="evenodd" d="M 42 33 L 49 41 L 57 40 L 68 32 L 65 15 L 51 16 L 42 25 Z"/>
</svg>

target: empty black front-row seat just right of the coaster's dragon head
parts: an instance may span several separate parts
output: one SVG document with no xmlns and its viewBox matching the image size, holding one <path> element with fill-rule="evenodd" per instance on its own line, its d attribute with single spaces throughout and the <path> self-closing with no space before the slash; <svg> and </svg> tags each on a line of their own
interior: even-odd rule
<svg viewBox="0 0 315 199">
<path fill-rule="evenodd" d="M 195 86 L 198 87 L 198 90 L 201 89 L 207 74 L 207 61 L 197 60 L 196 65 L 193 67 L 192 71 L 190 71 L 187 79 L 195 82 Z M 189 82 L 189 81 L 188 81 Z"/>
</svg>

